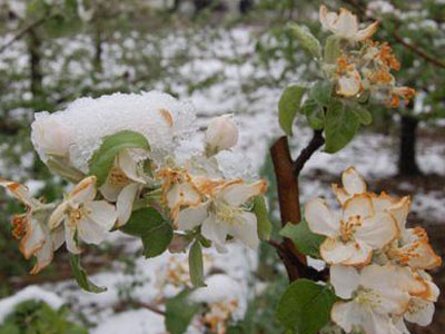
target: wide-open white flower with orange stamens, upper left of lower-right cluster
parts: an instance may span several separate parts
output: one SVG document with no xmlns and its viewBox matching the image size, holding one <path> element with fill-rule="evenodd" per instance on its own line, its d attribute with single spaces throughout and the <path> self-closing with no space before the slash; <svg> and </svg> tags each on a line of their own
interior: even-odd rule
<svg viewBox="0 0 445 334">
<path fill-rule="evenodd" d="M 388 213 L 376 212 L 367 194 L 349 198 L 339 217 L 323 199 L 313 199 L 306 204 L 305 217 L 314 233 L 327 236 L 320 255 L 328 264 L 366 265 L 373 249 L 398 236 L 396 220 Z"/>
</svg>

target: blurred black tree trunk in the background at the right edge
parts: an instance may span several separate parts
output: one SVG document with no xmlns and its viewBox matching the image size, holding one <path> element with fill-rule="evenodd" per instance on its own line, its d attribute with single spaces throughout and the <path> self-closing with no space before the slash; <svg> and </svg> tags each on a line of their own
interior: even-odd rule
<svg viewBox="0 0 445 334">
<path fill-rule="evenodd" d="M 416 161 L 417 126 L 418 119 L 412 116 L 402 116 L 398 156 L 398 174 L 402 176 L 415 176 L 422 174 Z"/>
</svg>

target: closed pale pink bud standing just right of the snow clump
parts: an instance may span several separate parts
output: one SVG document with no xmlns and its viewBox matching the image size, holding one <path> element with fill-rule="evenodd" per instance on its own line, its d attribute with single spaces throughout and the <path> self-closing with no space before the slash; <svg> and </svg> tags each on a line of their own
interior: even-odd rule
<svg viewBox="0 0 445 334">
<path fill-rule="evenodd" d="M 206 153 L 215 155 L 238 141 L 238 128 L 229 115 L 214 118 L 206 131 Z"/>
</svg>

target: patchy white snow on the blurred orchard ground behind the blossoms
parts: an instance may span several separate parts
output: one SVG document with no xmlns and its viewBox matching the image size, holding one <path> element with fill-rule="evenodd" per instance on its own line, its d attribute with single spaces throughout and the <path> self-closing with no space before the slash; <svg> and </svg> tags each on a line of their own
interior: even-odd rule
<svg viewBox="0 0 445 334">
<path fill-rule="evenodd" d="M 208 49 L 202 50 L 195 48 L 190 40 L 181 36 L 169 36 L 164 41 L 165 53 L 175 55 L 175 49 L 188 48 L 191 61 L 185 63 L 179 72 L 181 78 L 166 78 L 154 87 L 141 87 L 145 90 L 152 88 L 166 89 L 169 87 L 181 99 L 189 99 L 198 110 L 199 126 L 205 126 L 212 115 L 225 112 L 234 112 L 238 119 L 240 138 L 236 150 L 246 154 L 251 160 L 256 170 L 264 164 L 266 153 L 270 143 L 281 135 L 277 120 L 277 102 L 281 87 L 258 87 L 255 91 L 246 96 L 243 92 L 243 85 L 249 80 L 261 80 L 269 76 L 279 76 L 283 63 L 275 63 L 271 69 L 261 69 L 253 63 L 253 57 L 245 57 L 243 63 L 227 63 L 224 57 L 244 57 L 253 55 L 255 51 L 254 38 L 250 37 L 249 29 L 235 29 L 222 35 L 211 43 Z M 205 33 L 205 32 L 204 32 Z M 196 36 L 194 40 L 199 40 Z M 73 52 L 79 48 L 79 43 L 86 43 L 88 39 L 78 39 L 73 41 L 68 51 Z M 128 48 L 137 48 L 137 43 L 129 39 Z M 217 50 L 217 53 L 212 51 Z M 11 51 L 12 52 L 12 51 Z M 137 77 L 135 69 L 130 65 L 125 66 L 117 63 L 111 57 L 112 52 L 117 52 L 116 46 L 107 46 L 105 68 L 111 69 L 106 76 L 113 78 L 117 73 L 129 72 L 130 77 Z M 120 51 L 121 52 L 121 51 Z M 141 50 L 149 55 L 150 46 Z M 218 57 L 216 57 L 218 56 Z M 195 57 L 195 59 L 194 59 Z M 22 62 L 22 60 L 20 60 Z M 62 63 L 52 63 L 53 72 L 58 73 L 63 70 Z M 72 65 L 72 71 L 82 71 L 83 67 Z M 296 73 L 300 73 L 305 67 L 296 69 Z M 88 70 L 88 67 L 87 67 Z M 137 70 L 137 69 L 136 69 Z M 191 94 L 188 92 L 187 80 L 185 78 L 202 80 L 212 73 L 220 72 L 222 79 L 215 85 L 204 89 L 196 89 Z M 295 81 L 298 75 L 288 78 L 288 81 Z M 87 80 L 87 79 L 86 79 Z M 102 81 L 105 82 L 105 81 Z M 295 127 L 295 136 L 291 140 L 295 155 L 310 139 L 312 132 L 299 120 Z M 428 144 L 427 146 L 419 143 L 418 160 L 424 171 L 444 174 L 445 171 L 445 147 L 439 143 Z M 387 178 L 396 173 L 396 153 L 397 143 L 395 138 L 364 132 L 355 138 L 344 150 L 336 155 L 317 153 L 307 164 L 300 183 L 303 200 L 307 200 L 314 196 L 325 196 L 333 198 L 330 187 L 323 180 L 314 178 L 315 171 L 328 173 L 334 176 L 350 165 L 357 169 L 368 180 L 373 189 L 373 179 Z M 309 177 L 310 176 L 310 177 Z M 37 187 L 38 184 L 34 185 Z M 407 191 L 413 193 L 414 209 L 422 217 L 433 217 L 435 222 L 443 222 L 445 217 L 445 203 L 443 194 L 438 191 L 418 193 L 411 184 L 405 186 Z M 135 254 L 141 246 L 139 242 L 117 235 L 109 240 L 113 245 L 125 245 L 126 254 Z M 122 264 L 116 262 L 110 269 L 97 274 L 91 279 L 98 285 L 108 287 L 103 294 L 95 295 L 80 291 L 72 281 L 66 281 L 57 284 L 44 284 L 41 288 L 56 294 L 61 301 L 68 303 L 73 312 L 81 312 L 88 321 L 96 324 L 92 328 L 93 334 L 113 334 L 130 332 L 132 334 L 162 334 L 166 333 L 164 318 L 148 310 L 129 310 L 116 313 L 115 308 L 119 301 L 128 292 L 137 301 L 158 305 L 162 308 L 162 301 L 172 296 L 180 287 L 175 285 L 169 275 L 171 271 L 181 273 L 187 258 L 185 255 L 164 254 L 154 259 L 136 258 L 136 267 L 131 273 L 125 274 Z M 256 293 L 256 286 L 253 285 L 253 275 L 257 266 L 256 254 L 247 250 L 240 245 L 230 245 L 229 253 L 217 254 L 214 252 L 206 253 L 206 272 L 207 279 L 220 279 L 220 273 L 229 278 L 224 278 L 227 284 L 222 287 L 224 295 L 234 297 L 239 301 L 239 313 L 246 307 L 247 299 Z M 211 278 L 212 277 L 212 278 Z M 219 278 L 218 278 L 219 277 Z M 231 279 L 231 281 L 230 281 Z M 135 287 L 136 286 L 136 287 Z M 207 288 L 207 295 L 211 297 L 218 293 L 210 285 Z M 2 305 L 11 303 L 7 299 L 0 301 L 0 310 Z M 4 311 L 3 311 L 4 313 Z M 195 332 L 194 332 L 195 331 Z M 190 328 L 190 333 L 196 333 L 196 328 Z"/>
</svg>

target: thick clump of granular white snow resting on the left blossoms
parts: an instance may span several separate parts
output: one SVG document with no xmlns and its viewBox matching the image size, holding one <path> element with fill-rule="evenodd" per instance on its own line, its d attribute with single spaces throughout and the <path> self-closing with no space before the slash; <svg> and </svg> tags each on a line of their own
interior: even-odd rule
<svg viewBox="0 0 445 334">
<path fill-rule="evenodd" d="M 169 124 L 169 111 L 172 126 Z M 166 116 L 167 114 L 167 116 Z M 72 135 L 70 159 L 75 167 L 87 173 L 88 161 L 105 136 L 122 130 L 142 134 L 151 146 L 155 160 L 162 160 L 172 151 L 177 140 L 189 137 L 195 131 L 195 109 L 189 102 L 174 97 L 149 91 L 141 94 L 113 94 L 100 98 L 80 98 L 66 110 L 55 114 L 38 112 L 36 120 L 53 118 L 66 126 Z M 40 158 L 47 156 L 32 134 L 32 143 Z"/>
</svg>

